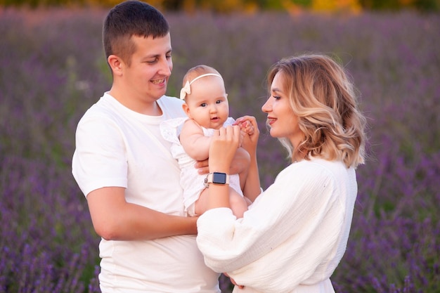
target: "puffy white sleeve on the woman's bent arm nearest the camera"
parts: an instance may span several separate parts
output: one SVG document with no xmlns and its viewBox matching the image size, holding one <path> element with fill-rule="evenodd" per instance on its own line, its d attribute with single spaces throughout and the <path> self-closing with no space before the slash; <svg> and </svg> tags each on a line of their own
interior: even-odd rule
<svg viewBox="0 0 440 293">
<path fill-rule="evenodd" d="M 296 261 L 295 257 L 301 256 L 295 252 L 311 245 L 309 239 L 313 231 L 337 202 L 333 182 L 328 171 L 313 163 L 291 165 L 257 197 L 242 219 L 235 219 L 227 208 L 206 211 L 198 219 L 197 237 L 205 263 L 216 272 L 250 268 L 250 273 L 252 268 L 264 263 L 269 254 L 273 263 Z M 286 243 L 290 255 L 276 253 Z M 316 252 L 316 255 L 325 253 Z M 298 260 L 304 272 L 315 269 L 317 261 L 312 259 Z M 257 266 L 256 261 L 260 262 Z M 252 277 L 252 273 L 250 275 Z"/>
</svg>

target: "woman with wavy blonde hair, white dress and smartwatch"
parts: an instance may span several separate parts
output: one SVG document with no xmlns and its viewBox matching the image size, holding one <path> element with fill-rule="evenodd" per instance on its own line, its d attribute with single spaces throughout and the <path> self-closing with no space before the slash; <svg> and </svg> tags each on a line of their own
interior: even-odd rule
<svg viewBox="0 0 440 293">
<path fill-rule="evenodd" d="M 262 110 L 292 164 L 242 219 L 229 209 L 227 184 L 210 181 L 209 208 L 198 219 L 198 247 L 209 267 L 240 285 L 233 292 L 335 292 L 330 275 L 347 246 L 355 169 L 364 162 L 365 118 L 347 74 L 328 56 L 280 60 L 268 72 L 268 88 Z M 246 119 L 257 129 L 253 117 L 238 122 Z M 210 172 L 228 176 L 239 136 L 238 126 L 216 131 Z M 255 131 L 242 145 L 254 176 L 258 136 Z"/>
</svg>

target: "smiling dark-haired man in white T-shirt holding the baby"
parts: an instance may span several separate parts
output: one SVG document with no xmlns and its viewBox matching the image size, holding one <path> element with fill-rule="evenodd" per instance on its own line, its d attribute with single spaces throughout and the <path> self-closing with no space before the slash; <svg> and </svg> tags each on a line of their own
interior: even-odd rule
<svg viewBox="0 0 440 293">
<path fill-rule="evenodd" d="M 160 122 L 185 115 L 181 100 L 164 96 L 173 67 L 167 20 L 126 1 L 105 18 L 103 43 L 112 87 L 79 121 L 72 160 L 102 237 L 101 291 L 220 292 L 219 274 L 195 243 L 197 217 L 183 211 L 179 165 L 160 135 Z"/>
</svg>

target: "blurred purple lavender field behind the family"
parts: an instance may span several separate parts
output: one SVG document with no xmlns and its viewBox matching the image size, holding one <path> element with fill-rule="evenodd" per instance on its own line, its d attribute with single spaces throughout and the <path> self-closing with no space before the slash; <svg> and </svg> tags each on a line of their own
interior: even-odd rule
<svg viewBox="0 0 440 293">
<path fill-rule="evenodd" d="M 99 239 L 70 163 L 79 118 L 110 86 L 105 13 L 0 8 L 0 292 L 99 292 Z M 264 188 L 287 164 L 260 110 L 266 70 L 305 51 L 346 65 L 370 141 L 336 292 L 440 292 L 440 15 L 167 18 L 168 94 L 177 96 L 189 67 L 216 67 L 231 114 L 259 121 Z"/>
</svg>

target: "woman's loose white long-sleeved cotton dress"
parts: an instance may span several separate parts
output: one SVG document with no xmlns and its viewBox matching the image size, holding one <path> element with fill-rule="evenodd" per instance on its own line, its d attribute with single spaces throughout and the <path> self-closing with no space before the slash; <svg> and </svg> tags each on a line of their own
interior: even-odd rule
<svg viewBox="0 0 440 293">
<path fill-rule="evenodd" d="M 236 219 L 231 209 L 198 219 L 207 266 L 227 272 L 243 293 L 332 293 L 345 252 L 357 183 L 353 168 L 323 159 L 291 164 Z"/>
</svg>

